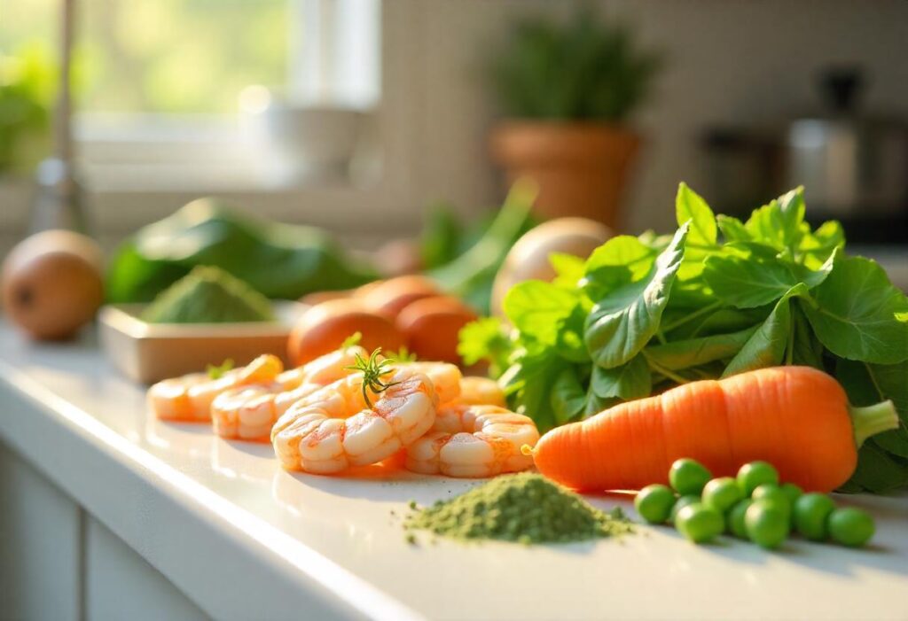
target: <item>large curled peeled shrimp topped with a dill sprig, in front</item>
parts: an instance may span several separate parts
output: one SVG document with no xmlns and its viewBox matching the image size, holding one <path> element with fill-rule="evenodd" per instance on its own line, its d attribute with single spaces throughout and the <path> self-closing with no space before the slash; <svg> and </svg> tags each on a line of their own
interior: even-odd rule
<svg viewBox="0 0 908 621">
<path fill-rule="evenodd" d="M 362 394 L 363 374 L 350 375 L 294 403 L 271 429 L 281 466 L 333 474 L 389 458 L 429 431 L 438 396 L 432 381 L 401 365 L 380 393 Z M 368 385 L 368 384 L 367 384 Z"/>
</svg>

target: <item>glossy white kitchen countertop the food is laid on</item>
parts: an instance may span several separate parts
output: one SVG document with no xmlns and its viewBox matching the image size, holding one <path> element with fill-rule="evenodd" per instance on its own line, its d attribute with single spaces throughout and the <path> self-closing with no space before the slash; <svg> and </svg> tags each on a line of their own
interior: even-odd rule
<svg viewBox="0 0 908 621">
<path fill-rule="evenodd" d="M 569 546 L 411 546 L 391 511 L 473 483 L 281 471 L 270 446 L 154 419 L 91 336 L 35 345 L 0 328 L 0 403 L 0 440 L 216 618 L 908 619 L 905 495 L 839 499 L 876 519 L 863 550 L 695 546 L 646 526 Z"/>
</svg>

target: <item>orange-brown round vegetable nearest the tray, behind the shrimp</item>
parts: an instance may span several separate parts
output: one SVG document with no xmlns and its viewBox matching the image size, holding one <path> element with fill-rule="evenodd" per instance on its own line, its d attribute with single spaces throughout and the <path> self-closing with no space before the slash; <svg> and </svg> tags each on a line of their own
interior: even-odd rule
<svg viewBox="0 0 908 621">
<path fill-rule="evenodd" d="M 287 353 L 291 363 L 305 364 L 328 354 L 355 333 L 367 351 L 398 351 L 406 341 L 391 320 L 371 313 L 359 300 L 338 299 L 312 306 L 291 330 Z"/>
</svg>

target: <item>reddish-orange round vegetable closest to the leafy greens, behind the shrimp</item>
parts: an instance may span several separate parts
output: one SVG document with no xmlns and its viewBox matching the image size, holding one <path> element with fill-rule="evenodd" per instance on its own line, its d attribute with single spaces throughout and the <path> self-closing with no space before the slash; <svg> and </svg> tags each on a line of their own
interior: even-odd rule
<svg viewBox="0 0 908 621">
<path fill-rule="evenodd" d="M 397 318 L 410 351 L 420 360 L 459 364 L 460 328 L 477 318 L 469 306 L 450 296 L 427 297 L 404 308 Z"/>
</svg>

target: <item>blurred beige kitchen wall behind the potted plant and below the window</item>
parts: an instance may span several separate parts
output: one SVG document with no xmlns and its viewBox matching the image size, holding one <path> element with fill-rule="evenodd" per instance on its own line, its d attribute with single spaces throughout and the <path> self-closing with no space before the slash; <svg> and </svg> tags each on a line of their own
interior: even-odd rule
<svg viewBox="0 0 908 621">
<path fill-rule="evenodd" d="M 679 180 L 706 187 L 697 148 L 707 125 L 784 121 L 818 105 L 814 76 L 828 63 L 864 65 L 867 104 L 908 116 L 908 2 L 903 0 L 598 0 L 637 24 L 668 60 L 635 122 L 646 136 L 627 196 L 627 228 L 669 228 Z M 577 2 L 384 0 L 384 111 L 389 174 L 376 189 L 95 191 L 94 222 L 108 241 L 195 195 L 220 193 L 256 212 L 334 228 L 356 245 L 419 229 L 419 209 L 449 199 L 465 215 L 502 195 L 486 137 L 495 111 L 485 59 L 519 15 L 568 16 Z M 212 9 L 213 10 L 213 9 Z M 25 228 L 27 192 L 0 183 L 0 251 Z M 707 197 L 708 199 L 708 197 Z M 808 189 L 809 200 L 809 189 Z M 721 209 L 721 206 L 716 206 Z"/>
</svg>

